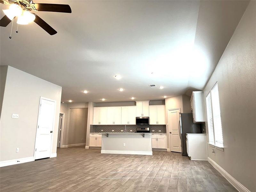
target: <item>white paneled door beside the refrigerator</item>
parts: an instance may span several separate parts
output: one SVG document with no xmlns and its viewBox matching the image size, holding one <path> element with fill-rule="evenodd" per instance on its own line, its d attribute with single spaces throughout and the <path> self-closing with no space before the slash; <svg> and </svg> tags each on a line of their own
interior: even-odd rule
<svg viewBox="0 0 256 192">
<path fill-rule="evenodd" d="M 170 142 L 171 142 L 171 151 L 181 153 L 181 141 L 180 141 L 180 109 L 169 110 L 169 130 L 170 130 Z"/>
</svg>

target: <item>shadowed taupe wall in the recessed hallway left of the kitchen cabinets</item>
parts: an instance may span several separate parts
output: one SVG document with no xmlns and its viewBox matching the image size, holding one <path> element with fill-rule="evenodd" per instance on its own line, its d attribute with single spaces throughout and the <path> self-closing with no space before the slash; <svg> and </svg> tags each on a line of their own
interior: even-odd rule
<svg viewBox="0 0 256 192">
<path fill-rule="evenodd" d="M 68 145 L 85 143 L 88 108 L 71 108 Z"/>
</svg>

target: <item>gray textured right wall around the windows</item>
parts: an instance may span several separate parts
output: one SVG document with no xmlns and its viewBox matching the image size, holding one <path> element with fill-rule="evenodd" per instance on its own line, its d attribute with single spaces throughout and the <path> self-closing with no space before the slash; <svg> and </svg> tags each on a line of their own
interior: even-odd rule
<svg viewBox="0 0 256 192">
<path fill-rule="evenodd" d="M 204 88 L 206 106 L 205 96 L 218 81 L 224 144 L 215 155 L 208 146 L 208 156 L 250 191 L 256 191 L 255 7 L 251 1 Z"/>
</svg>

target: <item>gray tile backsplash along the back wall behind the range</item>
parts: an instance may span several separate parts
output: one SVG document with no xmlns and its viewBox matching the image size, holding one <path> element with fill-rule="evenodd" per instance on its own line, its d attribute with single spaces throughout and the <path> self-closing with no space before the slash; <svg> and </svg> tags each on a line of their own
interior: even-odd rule
<svg viewBox="0 0 256 192">
<path fill-rule="evenodd" d="M 149 127 L 151 133 L 166 133 L 166 125 L 90 125 L 90 133 L 121 133 L 125 132 L 125 126 L 126 132 L 130 133 L 135 133 L 137 127 Z"/>
</svg>

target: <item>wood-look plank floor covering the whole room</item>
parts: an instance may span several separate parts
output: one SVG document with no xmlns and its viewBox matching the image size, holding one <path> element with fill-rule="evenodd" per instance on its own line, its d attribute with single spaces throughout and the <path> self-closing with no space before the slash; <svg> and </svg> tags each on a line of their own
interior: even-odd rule
<svg viewBox="0 0 256 192">
<path fill-rule="evenodd" d="M 57 158 L 2 167 L 0 176 L 1 192 L 237 191 L 207 161 L 166 151 L 142 156 L 59 148 Z"/>
</svg>

